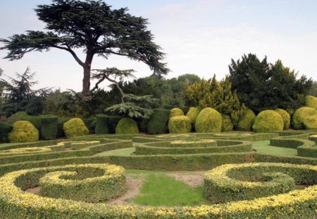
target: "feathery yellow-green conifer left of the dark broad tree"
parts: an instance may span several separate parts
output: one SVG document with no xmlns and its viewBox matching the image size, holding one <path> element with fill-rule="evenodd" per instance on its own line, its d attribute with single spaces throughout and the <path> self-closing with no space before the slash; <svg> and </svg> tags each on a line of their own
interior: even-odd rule
<svg viewBox="0 0 317 219">
<path fill-rule="evenodd" d="M 218 82 L 216 75 L 210 80 L 201 80 L 193 85 L 185 85 L 185 101 L 187 106 L 199 108 L 211 107 L 223 115 L 230 115 L 232 123 L 236 124 L 247 109 L 237 98 L 236 92 L 231 91 L 228 77 Z"/>
</svg>

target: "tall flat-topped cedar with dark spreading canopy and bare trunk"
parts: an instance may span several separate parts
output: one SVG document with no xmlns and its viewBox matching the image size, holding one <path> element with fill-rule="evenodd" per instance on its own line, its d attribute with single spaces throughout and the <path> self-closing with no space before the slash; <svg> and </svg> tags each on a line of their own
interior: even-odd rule
<svg viewBox="0 0 317 219">
<path fill-rule="evenodd" d="M 149 65 L 154 75 L 168 73 L 161 63 L 163 52 L 147 30 L 147 19 L 128 13 L 128 8 L 111 9 L 101 0 L 54 0 L 39 5 L 37 17 L 46 23 L 47 32 L 28 30 L 26 34 L 1 39 L 7 49 L 5 58 L 13 61 L 30 51 L 49 51 L 51 48 L 68 51 L 82 66 L 82 92 L 90 89 L 90 70 L 94 55 L 108 58 L 111 54 L 127 56 Z M 85 60 L 74 49 L 83 48 Z"/>
</svg>

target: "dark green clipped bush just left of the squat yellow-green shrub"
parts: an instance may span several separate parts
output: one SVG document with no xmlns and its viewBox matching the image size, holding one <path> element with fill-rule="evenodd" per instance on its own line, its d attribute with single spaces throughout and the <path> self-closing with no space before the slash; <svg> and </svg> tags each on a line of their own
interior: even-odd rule
<svg viewBox="0 0 317 219">
<path fill-rule="evenodd" d="M 168 119 L 170 118 L 170 111 L 163 108 L 155 108 L 151 115 L 149 123 L 147 124 L 147 132 L 149 134 L 163 134 L 166 133 Z"/>
</svg>

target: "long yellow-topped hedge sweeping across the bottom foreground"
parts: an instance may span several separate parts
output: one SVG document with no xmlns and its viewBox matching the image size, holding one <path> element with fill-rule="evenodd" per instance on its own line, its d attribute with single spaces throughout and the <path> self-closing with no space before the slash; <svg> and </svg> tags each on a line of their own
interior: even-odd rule
<svg viewBox="0 0 317 219">
<path fill-rule="evenodd" d="M 283 165 L 294 168 L 290 164 Z M 301 167 L 304 167 L 301 165 Z M 306 166 L 317 171 L 317 167 Z M 30 170 L 8 173 L 0 178 L 3 218 L 315 218 L 317 186 L 250 201 L 183 208 L 107 206 L 82 201 L 52 199 L 23 192 L 32 182 L 18 180 Z M 23 184 L 24 182 L 24 184 Z M 316 182 L 316 181 L 315 181 Z"/>
</svg>

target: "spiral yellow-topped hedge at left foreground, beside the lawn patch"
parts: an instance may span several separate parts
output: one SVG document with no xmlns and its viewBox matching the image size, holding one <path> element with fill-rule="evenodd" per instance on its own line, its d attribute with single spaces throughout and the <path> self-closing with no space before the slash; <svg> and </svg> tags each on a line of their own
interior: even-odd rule
<svg viewBox="0 0 317 219">
<path fill-rule="evenodd" d="M 49 173 L 51 171 L 54 172 Z M 125 170 L 118 165 L 86 164 L 40 168 L 28 171 L 20 180 L 28 177 L 35 184 L 24 182 L 21 187 L 39 185 L 42 196 L 54 199 L 97 203 L 114 199 L 125 192 Z"/>
</svg>

